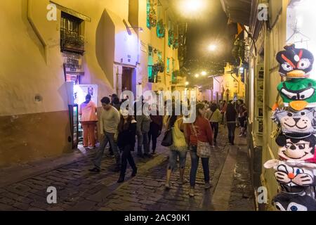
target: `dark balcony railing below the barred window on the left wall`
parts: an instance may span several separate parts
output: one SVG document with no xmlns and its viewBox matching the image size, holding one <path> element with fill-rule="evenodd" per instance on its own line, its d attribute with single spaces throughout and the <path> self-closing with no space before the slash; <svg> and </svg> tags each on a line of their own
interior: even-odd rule
<svg viewBox="0 0 316 225">
<path fill-rule="evenodd" d="M 62 52 L 84 54 L 84 37 L 68 30 L 60 30 L 60 48 Z"/>
</svg>

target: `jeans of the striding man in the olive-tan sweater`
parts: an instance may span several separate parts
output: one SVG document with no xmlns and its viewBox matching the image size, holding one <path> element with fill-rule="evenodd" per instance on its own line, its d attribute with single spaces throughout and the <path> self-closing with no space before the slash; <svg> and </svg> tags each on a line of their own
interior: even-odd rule
<svg viewBox="0 0 316 225">
<path fill-rule="evenodd" d="M 105 132 L 104 139 L 100 143 L 100 148 L 98 148 L 98 152 L 96 154 L 96 158 L 93 160 L 94 165 L 100 169 L 101 162 L 103 158 L 103 153 L 107 143 L 110 142 L 110 146 L 112 147 L 115 160 L 117 162 L 117 166 L 121 165 L 121 155 L 119 154 L 119 149 L 117 148 L 117 143 L 114 141 L 114 134 Z"/>
</svg>

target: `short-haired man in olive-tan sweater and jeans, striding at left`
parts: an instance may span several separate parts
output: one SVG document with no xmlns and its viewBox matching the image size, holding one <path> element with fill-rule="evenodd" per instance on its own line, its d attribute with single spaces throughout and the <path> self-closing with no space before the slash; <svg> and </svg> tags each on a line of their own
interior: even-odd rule
<svg viewBox="0 0 316 225">
<path fill-rule="evenodd" d="M 103 107 L 100 116 L 100 134 L 102 141 L 100 143 L 100 148 L 96 153 L 96 158 L 95 160 L 93 160 L 95 167 L 93 169 L 89 169 L 89 171 L 100 172 L 100 166 L 105 146 L 107 146 L 107 143 L 110 142 L 110 146 L 112 147 L 114 157 L 116 160 L 116 167 L 114 169 L 114 172 L 119 172 L 121 165 L 121 155 L 119 154 L 117 143 L 114 140 L 114 135 L 115 133 L 117 133 L 117 127 L 120 121 L 119 111 L 110 104 L 110 98 L 102 98 L 101 103 Z"/>
</svg>

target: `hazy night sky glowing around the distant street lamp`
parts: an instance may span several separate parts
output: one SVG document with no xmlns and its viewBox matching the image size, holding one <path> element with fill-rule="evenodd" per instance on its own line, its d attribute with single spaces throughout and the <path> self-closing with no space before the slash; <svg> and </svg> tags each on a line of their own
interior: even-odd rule
<svg viewBox="0 0 316 225">
<path fill-rule="evenodd" d="M 237 34 L 237 25 L 228 25 L 228 17 L 223 11 L 220 0 L 206 1 L 208 1 L 208 6 L 204 8 L 204 11 L 197 13 L 197 15 L 187 15 L 187 18 L 184 18 L 188 24 L 185 68 L 190 70 L 191 76 L 204 70 L 205 65 L 211 64 L 209 62 L 223 63 L 223 61 L 231 62 L 234 60 L 232 47 L 235 34 Z M 215 44 L 218 49 L 210 52 L 208 50 L 210 44 Z M 203 63 L 202 65 L 192 63 L 192 60 Z M 191 84 L 200 83 L 194 77 L 189 81 Z"/>
</svg>

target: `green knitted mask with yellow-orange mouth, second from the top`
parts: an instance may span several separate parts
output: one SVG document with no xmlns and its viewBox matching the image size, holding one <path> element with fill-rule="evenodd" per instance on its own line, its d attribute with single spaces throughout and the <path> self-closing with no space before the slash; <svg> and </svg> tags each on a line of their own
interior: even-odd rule
<svg viewBox="0 0 316 225">
<path fill-rule="evenodd" d="M 300 111 L 316 107 L 316 81 L 314 79 L 292 79 L 277 86 L 285 107 Z"/>
</svg>

